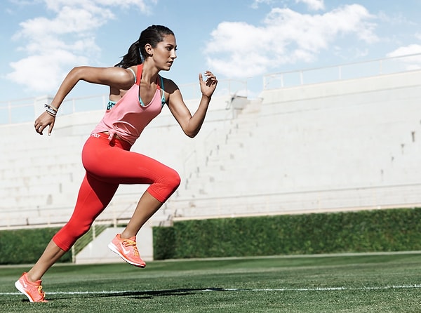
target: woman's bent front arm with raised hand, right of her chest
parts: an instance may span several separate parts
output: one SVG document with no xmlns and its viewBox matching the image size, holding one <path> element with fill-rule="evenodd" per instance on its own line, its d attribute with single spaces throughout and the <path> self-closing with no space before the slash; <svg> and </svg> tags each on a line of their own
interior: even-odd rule
<svg viewBox="0 0 421 313">
<path fill-rule="evenodd" d="M 170 88 L 168 96 L 168 107 L 171 113 L 180 124 L 182 131 L 190 138 L 194 138 L 200 131 L 200 128 L 205 120 L 206 112 L 210 98 L 212 98 L 218 80 L 212 72 L 206 71 L 206 81 L 203 81 L 203 76 L 199 74 L 200 91 L 202 93 L 199 107 L 192 115 L 182 100 L 180 90 L 174 84 L 174 88 Z"/>
</svg>

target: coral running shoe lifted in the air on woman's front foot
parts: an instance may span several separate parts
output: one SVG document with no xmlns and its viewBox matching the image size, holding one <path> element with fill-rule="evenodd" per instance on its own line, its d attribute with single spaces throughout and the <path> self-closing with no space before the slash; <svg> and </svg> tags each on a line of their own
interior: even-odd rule
<svg viewBox="0 0 421 313">
<path fill-rule="evenodd" d="M 145 261 L 140 258 L 138 247 L 136 246 L 136 237 L 121 239 L 120 234 L 117 234 L 108 244 L 108 248 L 131 265 L 142 268 L 146 266 Z"/>
</svg>

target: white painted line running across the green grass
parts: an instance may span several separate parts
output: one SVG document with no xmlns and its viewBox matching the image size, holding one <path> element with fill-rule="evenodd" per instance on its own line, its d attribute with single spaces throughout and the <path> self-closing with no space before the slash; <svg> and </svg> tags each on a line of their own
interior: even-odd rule
<svg viewBox="0 0 421 313">
<path fill-rule="evenodd" d="M 172 292 L 209 292 L 209 291 L 370 291 L 383 289 L 405 289 L 405 288 L 421 288 L 421 284 L 415 285 L 399 285 L 399 286 L 377 286 L 377 287 L 316 287 L 316 288 L 203 288 L 189 289 L 181 288 L 171 290 Z M 47 292 L 47 295 L 121 295 L 125 293 L 160 293 L 163 290 L 149 291 L 53 291 Z M 22 295 L 22 293 L 0 293 L 0 295 Z"/>
</svg>

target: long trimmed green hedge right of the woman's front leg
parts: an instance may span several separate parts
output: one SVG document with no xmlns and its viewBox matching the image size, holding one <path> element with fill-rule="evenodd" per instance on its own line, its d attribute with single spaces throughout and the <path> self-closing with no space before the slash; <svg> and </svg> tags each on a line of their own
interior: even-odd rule
<svg viewBox="0 0 421 313">
<path fill-rule="evenodd" d="M 421 208 L 175 222 L 154 227 L 154 258 L 421 250 Z"/>
</svg>

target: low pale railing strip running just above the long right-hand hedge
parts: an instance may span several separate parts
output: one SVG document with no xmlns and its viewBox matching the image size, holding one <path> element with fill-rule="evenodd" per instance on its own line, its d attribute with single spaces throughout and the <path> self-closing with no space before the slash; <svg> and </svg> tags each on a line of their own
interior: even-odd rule
<svg viewBox="0 0 421 313">
<path fill-rule="evenodd" d="M 182 208 L 182 213 L 173 213 L 172 220 L 415 208 L 421 205 L 420 191 L 421 183 L 310 189 L 246 194 L 241 197 L 220 195 L 196 199 L 173 198 L 168 201 L 168 206 Z M 192 202 L 194 206 L 186 206 L 186 202 Z"/>
</svg>

